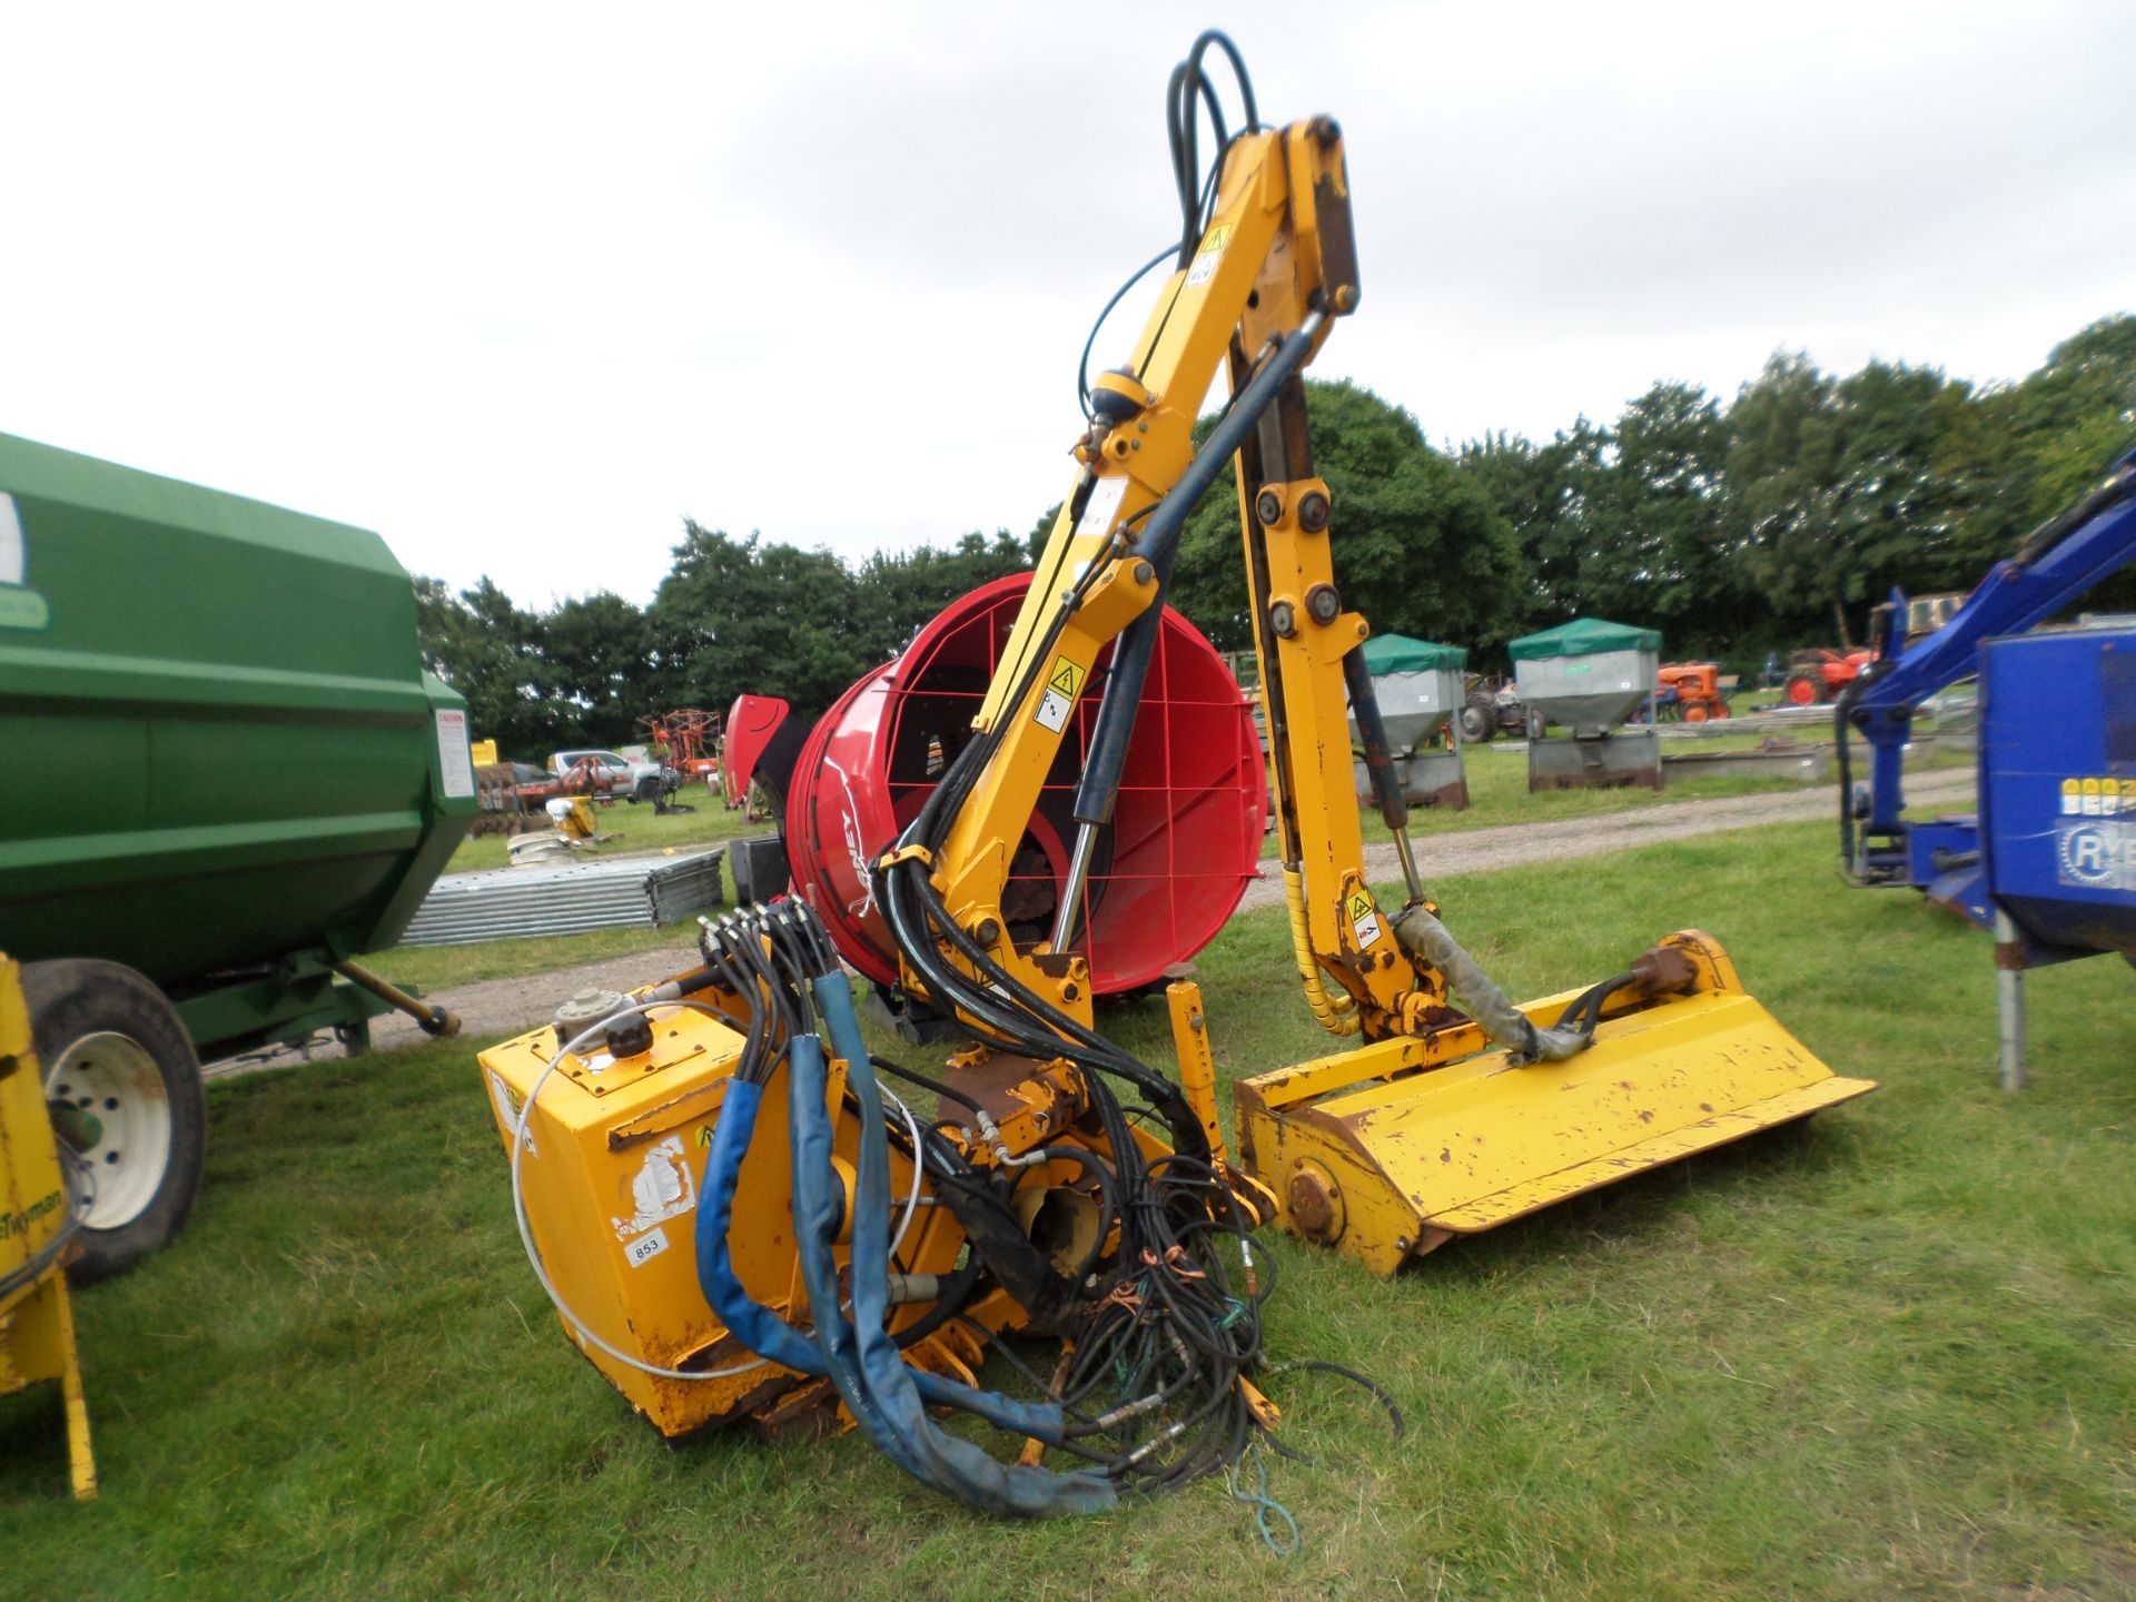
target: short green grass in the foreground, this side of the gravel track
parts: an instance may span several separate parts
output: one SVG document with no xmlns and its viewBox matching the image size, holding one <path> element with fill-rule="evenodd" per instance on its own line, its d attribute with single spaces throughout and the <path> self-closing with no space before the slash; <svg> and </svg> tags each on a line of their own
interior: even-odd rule
<svg viewBox="0 0 2136 1602">
<path fill-rule="evenodd" d="M 1884 1089 L 1373 1279 L 1279 1239 L 1273 1559 L 1222 1485 L 1012 1525 L 859 1438 L 671 1450 L 566 1346 L 446 1042 L 218 1085 L 177 1245 L 79 1299 L 103 1502 L 49 1388 L 0 1403 L 11 1596 L 2110 1598 L 2136 1589 L 2130 972 L 2029 976 L 1995 1087 L 1986 940 L 1843 889 L 1796 824 L 1450 878 L 1519 993 L 1696 923 Z M 1282 918 L 1205 953 L 1226 1074 L 1326 1051 Z M 1109 1027 L 1168 1062 L 1162 1004 Z"/>
</svg>

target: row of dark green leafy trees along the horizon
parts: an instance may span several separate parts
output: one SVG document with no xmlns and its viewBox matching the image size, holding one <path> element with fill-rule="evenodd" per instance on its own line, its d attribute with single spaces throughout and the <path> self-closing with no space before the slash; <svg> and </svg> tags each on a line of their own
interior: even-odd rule
<svg viewBox="0 0 2136 1602">
<path fill-rule="evenodd" d="M 1969 590 L 2136 436 L 2136 316 L 2113 316 L 2014 384 L 1871 361 L 1826 374 L 1779 352 L 1732 399 L 1655 382 L 1615 421 L 1551 440 L 1440 451 L 1348 382 L 1307 382 L 1316 470 L 1335 500 L 1337 579 L 1373 626 L 1504 660 L 1568 617 L 1660 628 L 1672 658 L 1756 669 L 1766 651 L 1858 641 L 1869 604 Z M 615 745 L 677 705 L 780 694 L 816 716 L 957 596 L 1030 566 L 1017 538 L 861 564 L 684 523 L 651 604 L 594 594 L 547 611 L 483 579 L 417 579 L 425 660 L 506 752 Z M 1230 481 L 1188 521 L 1171 600 L 1220 649 L 1252 632 Z M 2093 598 L 2136 607 L 2136 575 Z"/>
</svg>

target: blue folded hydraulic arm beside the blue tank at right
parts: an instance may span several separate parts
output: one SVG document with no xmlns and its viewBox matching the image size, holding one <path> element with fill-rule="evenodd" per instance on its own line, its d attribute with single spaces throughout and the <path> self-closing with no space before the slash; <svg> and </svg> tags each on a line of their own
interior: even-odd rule
<svg viewBox="0 0 2136 1602">
<path fill-rule="evenodd" d="M 2100 489 L 2042 525 L 2014 557 L 1997 562 L 1974 594 L 1939 630 L 1912 649 L 1873 662 L 1839 696 L 1835 735 L 1841 758 L 1841 842 L 1846 869 L 1858 884 L 1929 886 L 1944 876 L 1922 876 L 1933 861 L 1910 844 L 1903 820 L 1905 782 L 1901 756 L 1914 733 L 1914 707 L 1927 696 L 1980 671 L 1980 649 L 1989 639 L 2038 628 L 2093 585 L 2136 560 L 2136 451 L 2113 464 Z M 1895 615 L 1905 615 L 1905 598 L 1892 594 Z M 2061 724 L 2074 709 L 2042 718 L 2042 728 Z M 1848 735 L 1869 743 L 1869 784 L 1848 780 Z M 1982 731 L 1982 763 L 1989 739 Z M 1858 831 L 1856 831 L 1856 818 Z M 1963 818 L 1939 818 L 1937 829 L 1961 827 Z M 1963 893 L 1963 906 L 1972 906 Z M 1980 916 L 1986 908 L 1980 906 Z"/>
</svg>

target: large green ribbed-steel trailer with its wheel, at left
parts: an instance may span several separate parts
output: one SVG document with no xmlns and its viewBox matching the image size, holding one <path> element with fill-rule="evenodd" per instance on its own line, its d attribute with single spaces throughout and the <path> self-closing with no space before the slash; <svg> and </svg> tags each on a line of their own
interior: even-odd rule
<svg viewBox="0 0 2136 1602">
<path fill-rule="evenodd" d="M 0 434 L 0 951 L 94 1173 L 81 1271 L 184 1222 L 199 1064 L 389 1004 L 474 818 L 466 703 L 376 534 Z"/>
</svg>

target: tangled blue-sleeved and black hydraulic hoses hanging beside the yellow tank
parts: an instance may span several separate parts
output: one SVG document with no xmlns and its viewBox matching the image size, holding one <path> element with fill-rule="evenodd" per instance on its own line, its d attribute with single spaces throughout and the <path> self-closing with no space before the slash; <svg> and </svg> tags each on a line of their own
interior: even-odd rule
<svg viewBox="0 0 2136 1602">
<path fill-rule="evenodd" d="M 895 876 L 895 882 L 901 910 L 910 910 L 908 878 Z M 1096 1036 L 1081 1042 L 1051 1036 L 1047 1055 L 1062 1055 L 1068 1047 L 1074 1053 L 1070 1059 L 1087 1072 L 1085 1089 L 1106 1136 L 1104 1153 L 1062 1143 L 1023 1153 L 1015 1166 L 980 1173 L 942 1126 L 921 1128 L 882 1089 L 859 1034 L 846 974 L 805 906 L 782 901 L 722 918 L 705 931 L 705 961 L 720 974 L 722 987 L 735 985 L 733 993 L 750 1010 L 750 1027 L 705 1162 L 698 1277 L 713 1312 L 752 1352 L 799 1373 L 827 1376 L 891 1461 L 938 1491 L 993 1512 L 1091 1512 L 1113 1506 L 1124 1491 L 1168 1491 L 1239 1461 L 1258 1429 L 1252 1391 L 1243 1382 L 1260 1363 L 1260 1303 L 1273 1277 L 1267 1265 L 1256 1262 L 1247 1239 L 1252 1218 L 1222 1183 L 1198 1124 L 1162 1074 Z M 1032 1000 L 1025 995 L 1023 1004 Z M 1045 1045 L 1036 1036 L 1036 1017 L 1002 1012 L 998 1021 L 1010 1032 L 1004 1040 L 1021 1038 L 1032 1049 Z M 861 1132 L 850 1292 L 842 1290 L 833 1254 L 844 1190 L 831 1164 L 827 1053 L 846 1062 L 850 1113 Z M 748 1294 L 728 1247 L 741 1160 L 756 1136 L 765 1087 L 780 1068 L 788 1074 L 797 1252 L 810 1307 L 816 1309 L 805 1333 Z M 1138 1091 L 1134 1104 L 1113 1094 L 1113 1077 Z M 942 1089 L 957 1098 L 957 1091 Z M 1136 1115 L 1162 1121 L 1173 1138 L 1188 1145 L 1145 1160 L 1130 1128 Z M 929 1314 L 897 1333 L 886 1326 L 889 1273 L 899 1243 L 891 1235 L 891 1138 L 908 1145 L 936 1194 L 968 1224 L 972 1243 L 968 1265 L 944 1277 Z M 1012 1196 L 1025 1168 L 1055 1158 L 1074 1160 L 1091 1175 L 1104 1213 L 1100 1243 L 1117 1226 L 1119 1245 L 1104 1271 L 1096 1271 L 1094 1250 L 1079 1275 L 1055 1294 L 1051 1322 L 1066 1331 L 1066 1346 L 1053 1382 L 1040 1382 L 1045 1399 L 1017 1401 L 906 1365 L 899 1348 L 959 1316 L 989 1282 L 1006 1284 L 1019 1299 L 1027 1294 L 1017 1279 L 1019 1273 L 1030 1275 L 1030 1262 L 1019 1265 L 1017 1252 L 1004 1247 L 1012 1243 L 1036 1256 L 1017 1226 Z M 822 1309 L 831 1309 L 829 1316 Z M 987 1331 L 978 1333 L 993 1339 Z M 1012 1352 L 1008 1358 L 1017 1363 Z M 1081 1459 L 1083 1467 L 1059 1474 L 1032 1463 L 1002 1463 L 972 1442 L 940 1431 L 927 1416 L 927 1408 L 938 1405 L 972 1412 L 1017 1438 L 1059 1448 Z"/>
</svg>

